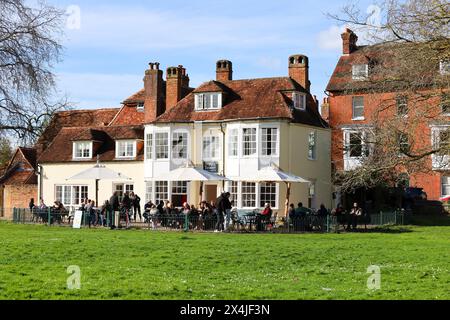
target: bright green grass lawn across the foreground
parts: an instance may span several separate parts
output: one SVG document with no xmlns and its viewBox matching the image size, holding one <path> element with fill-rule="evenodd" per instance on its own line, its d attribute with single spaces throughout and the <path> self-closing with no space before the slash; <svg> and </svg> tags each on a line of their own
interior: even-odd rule
<svg viewBox="0 0 450 320">
<path fill-rule="evenodd" d="M 450 227 L 348 234 L 73 230 L 0 222 L 0 299 L 450 299 Z M 68 290 L 67 267 L 81 269 Z M 381 268 L 371 291 L 367 267 Z"/>
</svg>

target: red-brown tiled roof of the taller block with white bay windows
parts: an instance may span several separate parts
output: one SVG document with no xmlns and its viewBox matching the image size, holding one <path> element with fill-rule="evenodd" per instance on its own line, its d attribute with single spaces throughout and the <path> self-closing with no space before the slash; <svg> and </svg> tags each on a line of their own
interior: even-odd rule
<svg viewBox="0 0 450 320">
<path fill-rule="evenodd" d="M 224 92 L 222 109 L 195 111 L 195 92 L 218 89 Z M 155 123 L 284 118 L 297 123 L 327 127 L 310 94 L 306 111 L 293 111 L 292 100 L 286 95 L 289 91 L 306 92 L 289 77 L 210 81 L 202 84 L 194 93 L 159 116 Z"/>
</svg>

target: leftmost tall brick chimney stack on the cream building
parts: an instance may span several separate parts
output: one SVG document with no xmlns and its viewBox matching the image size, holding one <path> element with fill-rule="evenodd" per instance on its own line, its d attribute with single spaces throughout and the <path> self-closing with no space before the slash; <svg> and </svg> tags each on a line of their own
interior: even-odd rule
<svg viewBox="0 0 450 320">
<path fill-rule="evenodd" d="M 164 101 L 162 100 L 163 79 L 159 63 L 149 63 L 149 69 L 145 70 L 144 76 L 144 120 L 152 122 L 164 113 Z"/>
</svg>

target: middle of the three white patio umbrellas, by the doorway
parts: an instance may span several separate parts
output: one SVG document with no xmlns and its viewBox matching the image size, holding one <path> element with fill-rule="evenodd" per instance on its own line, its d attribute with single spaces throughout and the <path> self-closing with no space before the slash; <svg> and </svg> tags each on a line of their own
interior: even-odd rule
<svg viewBox="0 0 450 320">
<path fill-rule="evenodd" d="M 226 181 L 224 176 L 209 172 L 200 168 L 196 168 L 190 161 L 186 162 L 186 166 L 179 167 L 169 173 L 161 174 L 155 177 L 156 180 L 164 181 L 200 181 L 200 199 L 203 195 L 204 181 Z"/>
</svg>

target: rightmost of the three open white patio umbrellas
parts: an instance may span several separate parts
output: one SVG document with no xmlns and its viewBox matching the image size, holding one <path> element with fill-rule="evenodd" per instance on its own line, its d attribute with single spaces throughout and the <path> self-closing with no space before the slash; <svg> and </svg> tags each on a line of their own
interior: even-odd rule
<svg viewBox="0 0 450 320">
<path fill-rule="evenodd" d="M 233 179 L 234 180 L 234 179 Z M 281 170 L 276 164 L 271 163 L 270 166 L 264 167 L 251 176 L 241 176 L 237 178 L 239 181 L 253 181 L 253 182 L 284 182 L 286 183 L 286 207 L 285 215 L 287 217 L 289 208 L 289 198 L 291 196 L 292 183 L 309 183 L 310 181 L 302 177 L 296 176 L 292 173 Z"/>
</svg>

